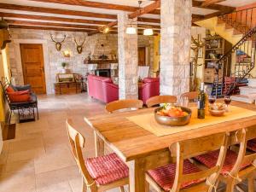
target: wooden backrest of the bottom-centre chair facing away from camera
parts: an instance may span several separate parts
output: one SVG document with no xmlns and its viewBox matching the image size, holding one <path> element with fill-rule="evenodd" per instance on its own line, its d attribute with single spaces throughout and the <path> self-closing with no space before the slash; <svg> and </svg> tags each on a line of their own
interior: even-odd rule
<svg viewBox="0 0 256 192">
<path fill-rule="evenodd" d="M 170 146 L 171 160 L 176 163 L 176 175 L 172 186 L 172 192 L 180 190 L 182 183 L 192 182 L 195 180 L 205 180 L 205 183 L 192 185 L 193 191 L 212 191 L 218 178 L 218 174 L 224 164 L 224 158 L 229 143 L 229 133 L 222 132 L 211 136 L 199 137 L 182 142 L 173 143 Z M 186 159 L 195 157 L 200 154 L 220 149 L 216 166 L 203 170 L 201 172 L 183 174 L 183 162 Z M 196 189 L 198 187 L 198 189 Z M 189 191 L 189 190 L 188 190 Z"/>
</svg>

